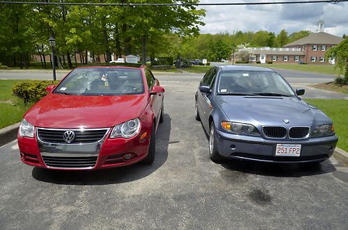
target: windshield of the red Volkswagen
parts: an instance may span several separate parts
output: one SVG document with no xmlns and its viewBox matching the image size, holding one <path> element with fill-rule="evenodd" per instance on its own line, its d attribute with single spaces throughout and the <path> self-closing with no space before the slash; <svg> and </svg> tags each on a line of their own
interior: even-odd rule
<svg viewBox="0 0 348 230">
<path fill-rule="evenodd" d="M 137 95 L 144 92 L 140 69 L 74 69 L 54 90 L 64 95 Z"/>
</svg>

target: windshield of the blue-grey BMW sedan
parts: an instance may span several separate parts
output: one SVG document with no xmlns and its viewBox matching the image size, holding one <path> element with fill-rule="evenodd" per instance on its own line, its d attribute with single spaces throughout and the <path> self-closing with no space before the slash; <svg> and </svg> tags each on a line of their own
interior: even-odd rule
<svg viewBox="0 0 348 230">
<path fill-rule="evenodd" d="M 294 92 L 276 72 L 226 71 L 220 74 L 218 94 L 290 97 Z"/>
</svg>

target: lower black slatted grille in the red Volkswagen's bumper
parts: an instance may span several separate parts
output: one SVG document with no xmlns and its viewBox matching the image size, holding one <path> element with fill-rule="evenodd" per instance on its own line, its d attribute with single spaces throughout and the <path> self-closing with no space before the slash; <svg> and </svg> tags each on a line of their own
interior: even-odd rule
<svg viewBox="0 0 348 230">
<path fill-rule="evenodd" d="M 97 156 L 61 157 L 42 156 L 43 161 L 50 167 L 94 167 L 97 163 Z"/>
</svg>

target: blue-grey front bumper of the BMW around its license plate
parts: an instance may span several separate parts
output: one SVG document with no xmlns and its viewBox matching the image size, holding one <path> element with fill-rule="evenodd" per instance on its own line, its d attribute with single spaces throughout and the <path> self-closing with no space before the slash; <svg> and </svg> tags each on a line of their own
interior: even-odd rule
<svg viewBox="0 0 348 230">
<path fill-rule="evenodd" d="M 234 135 L 217 130 L 217 148 L 225 158 L 268 163 L 309 163 L 330 158 L 338 138 L 331 135 L 324 138 L 305 140 L 267 140 L 262 137 Z M 300 156 L 276 156 L 277 144 L 301 145 Z"/>
</svg>

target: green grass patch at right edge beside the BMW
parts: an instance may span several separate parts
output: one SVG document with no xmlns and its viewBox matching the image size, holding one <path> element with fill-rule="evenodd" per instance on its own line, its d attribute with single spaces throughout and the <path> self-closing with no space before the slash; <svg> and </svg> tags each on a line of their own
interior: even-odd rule
<svg viewBox="0 0 348 230">
<path fill-rule="evenodd" d="M 335 126 L 338 147 L 348 151 L 348 101 L 345 99 L 305 99 L 328 115 Z"/>
</svg>

